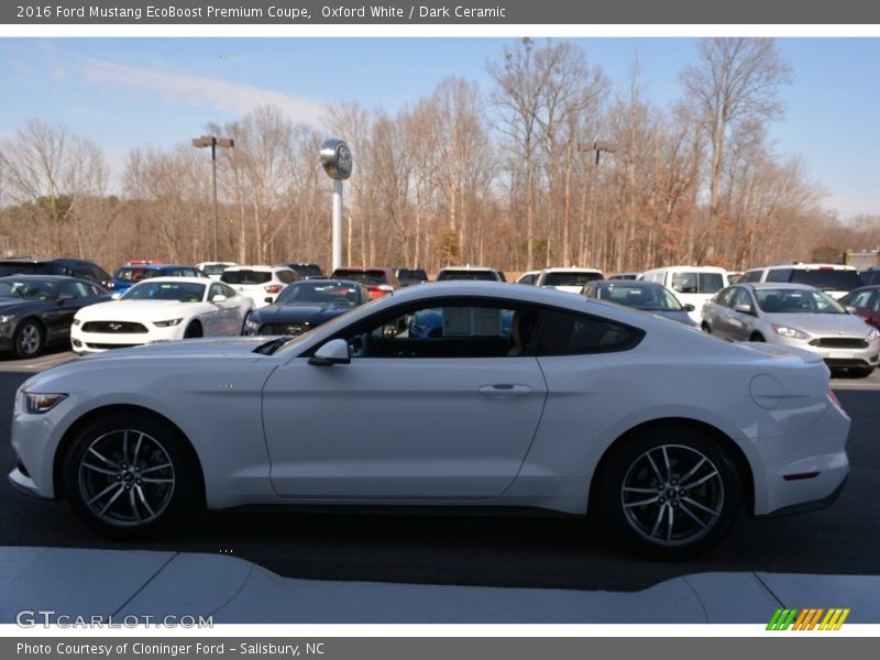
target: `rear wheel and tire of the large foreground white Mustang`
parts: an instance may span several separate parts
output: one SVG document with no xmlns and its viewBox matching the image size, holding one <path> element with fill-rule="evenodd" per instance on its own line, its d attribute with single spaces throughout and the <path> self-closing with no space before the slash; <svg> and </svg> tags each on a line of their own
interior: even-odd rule
<svg viewBox="0 0 880 660">
<path fill-rule="evenodd" d="M 609 458 L 600 475 L 600 510 L 640 552 L 684 559 L 717 543 L 741 498 L 730 457 L 686 427 L 649 429 Z"/>
</svg>

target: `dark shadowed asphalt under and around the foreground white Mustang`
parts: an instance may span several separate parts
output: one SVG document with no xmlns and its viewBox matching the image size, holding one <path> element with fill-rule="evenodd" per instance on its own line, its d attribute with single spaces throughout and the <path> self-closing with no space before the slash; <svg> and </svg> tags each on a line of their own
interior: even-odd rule
<svg viewBox="0 0 880 660">
<path fill-rule="evenodd" d="M 56 361 L 62 354 L 38 360 Z M 0 363 L 0 470 L 9 444 L 12 395 L 25 364 Z M 16 372 L 10 372 L 15 366 Z M 880 376 L 835 380 L 853 417 L 850 479 L 831 508 L 768 520 L 740 516 L 729 536 L 686 562 L 646 560 L 601 525 L 575 518 L 321 513 L 206 513 L 174 537 L 150 543 L 107 541 L 66 503 L 41 502 L 0 480 L 0 546 L 216 552 L 292 578 L 493 586 L 641 590 L 707 571 L 880 574 Z"/>
</svg>

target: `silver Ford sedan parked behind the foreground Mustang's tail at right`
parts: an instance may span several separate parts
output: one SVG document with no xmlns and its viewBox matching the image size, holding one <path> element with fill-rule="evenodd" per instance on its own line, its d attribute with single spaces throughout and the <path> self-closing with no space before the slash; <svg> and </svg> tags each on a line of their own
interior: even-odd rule
<svg viewBox="0 0 880 660">
<path fill-rule="evenodd" d="M 878 364 L 880 332 L 812 286 L 772 282 L 735 284 L 703 308 L 702 329 L 733 341 L 766 341 L 806 349 L 832 367 L 868 376 Z"/>
</svg>

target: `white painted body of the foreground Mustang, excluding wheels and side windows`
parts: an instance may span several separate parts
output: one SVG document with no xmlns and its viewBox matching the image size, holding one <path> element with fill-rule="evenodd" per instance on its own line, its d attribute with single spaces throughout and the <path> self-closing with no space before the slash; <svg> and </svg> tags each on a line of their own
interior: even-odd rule
<svg viewBox="0 0 880 660">
<path fill-rule="evenodd" d="M 539 310 L 551 326 L 552 315 L 583 319 L 639 340 L 626 350 L 580 355 L 542 355 L 539 344 L 529 349 L 535 354 L 518 356 L 349 358 L 361 328 L 463 298 L 491 309 Z M 340 339 L 348 333 L 351 340 Z M 396 340 L 394 333 L 378 339 Z M 583 515 L 595 505 L 591 487 L 602 487 L 606 460 L 632 438 L 666 438 L 669 425 L 686 428 L 663 439 L 663 448 L 701 433 L 711 439 L 701 442 L 717 446 L 711 451 L 730 457 L 741 498 L 756 516 L 827 506 L 848 471 L 849 418 L 829 397 L 828 370 L 817 355 L 733 344 L 552 289 L 473 282 L 409 287 L 277 352 L 255 352 L 264 342 L 166 343 L 33 376 L 15 397 L 12 444 L 21 468 L 11 482 L 38 496 L 64 495 L 59 452 L 84 424 L 100 422 L 119 406 L 128 410 L 122 425 L 148 411 L 179 429 L 175 442 L 191 448 L 209 508 L 420 504 Z M 47 411 L 32 408 L 47 400 Z M 671 479 L 669 466 L 666 472 Z M 733 492 L 728 497 L 737 502 Z M 608 501 L 613 506 L 614 496 Z"/>
</svg>

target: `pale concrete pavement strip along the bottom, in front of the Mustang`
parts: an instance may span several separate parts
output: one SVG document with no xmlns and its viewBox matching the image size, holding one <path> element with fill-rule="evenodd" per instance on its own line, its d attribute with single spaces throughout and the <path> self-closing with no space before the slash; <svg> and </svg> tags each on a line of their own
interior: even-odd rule
<svg viewBox="0 0 880 660">
<path fill-rule="evenodd" d="M 96 590 L 95 584 L 101 588 Z M 756 624 L 778 608 L 880 620 L 880 576 L 698 573 L 639 592 L 285 579 L 221 554 L 0 548 L 0 624 L 22 609 L 215 624 Z"/>
</svg>

